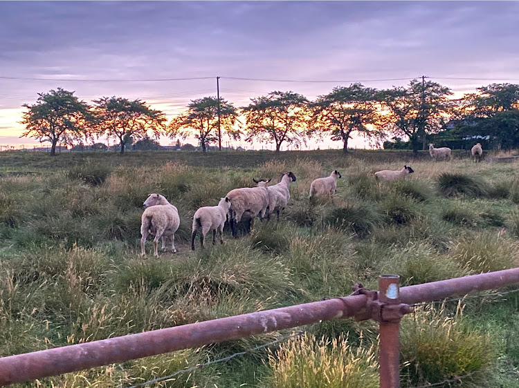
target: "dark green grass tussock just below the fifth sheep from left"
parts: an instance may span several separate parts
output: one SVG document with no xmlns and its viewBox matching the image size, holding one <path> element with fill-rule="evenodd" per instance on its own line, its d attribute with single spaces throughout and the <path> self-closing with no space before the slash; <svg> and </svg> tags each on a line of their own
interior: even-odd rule
<svg viewBox="0 0 519 388">
<path fill-rule="evenodd" d="M 384 220 L 385 217 L 376 204 L 332 208 L 323 217 L 324 224 L 355 233 L 361 238 L 370 235 L 376 226 L 383 224 Z"/>
</svg>

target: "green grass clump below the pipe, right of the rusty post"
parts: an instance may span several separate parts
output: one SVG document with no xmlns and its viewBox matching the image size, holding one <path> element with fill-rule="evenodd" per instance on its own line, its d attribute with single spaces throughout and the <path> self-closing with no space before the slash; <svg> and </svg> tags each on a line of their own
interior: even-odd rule
<svg viewBox="0 0 519 388">
<path fill-rule="evenodd" d="M 401 322 L 402 374 L 410 386 L 438 384 L 458 376 L 472 374 L 463 382 L 488 387 L 485 375 L 495 351 L 488 334 L 472 329 L 462 319 L 461 310 L 452 318 L 442 309 L 419 311 L 415 318 Z"/>
</svg>

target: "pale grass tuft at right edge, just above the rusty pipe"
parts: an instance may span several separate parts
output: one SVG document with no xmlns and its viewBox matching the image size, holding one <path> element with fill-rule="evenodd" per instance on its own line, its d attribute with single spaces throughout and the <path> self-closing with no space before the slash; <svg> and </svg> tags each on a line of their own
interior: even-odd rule
<svg viewBox="0 0 519 388">
<path fill-rule="evenodd" d="M 449 254 L 469 271 L 500 271 L 517 266 L 519 243 L 498 233 L 471 233 L 459 237 Z"/>
</svg>

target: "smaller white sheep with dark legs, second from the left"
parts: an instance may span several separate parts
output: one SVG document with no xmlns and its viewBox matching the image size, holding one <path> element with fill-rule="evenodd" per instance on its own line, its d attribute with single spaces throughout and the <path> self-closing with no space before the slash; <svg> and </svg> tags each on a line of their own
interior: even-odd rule
<svg viewBox="0 0 519 388">
<path fill-rule="evenodd" d="M 203 240 L 208 231 L 212 231 L 212 244 L 216 244 L 216 232 L 220 235 L 220 242 L 224 244 L 224 224 L 230 208 L 230 199 L 221 198 L 218 206 L 204 206 L 199 208 L 193 216 L 193 227 L 191 233 L 191 249 L 194 251 L 194 239 L 200 230 L 200 246 L 203 249 Z"/>
</svg>

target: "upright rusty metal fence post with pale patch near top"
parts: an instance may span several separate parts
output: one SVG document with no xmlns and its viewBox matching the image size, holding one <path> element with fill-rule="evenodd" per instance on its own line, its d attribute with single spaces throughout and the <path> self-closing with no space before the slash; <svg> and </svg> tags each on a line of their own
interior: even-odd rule
<svg viewBox="0 0 519 388">
<path fill-rule="evenodd" d="M 379 302 L 381 319 L 379 320 L 379 372 L 380 388 L 400 387 L 400 318 L 387 322 L 383 319 L 384 306 L 400 304 L 400 276 L 379 276 Z"/>
</svg>

